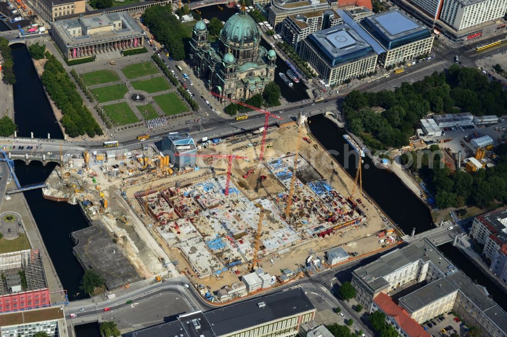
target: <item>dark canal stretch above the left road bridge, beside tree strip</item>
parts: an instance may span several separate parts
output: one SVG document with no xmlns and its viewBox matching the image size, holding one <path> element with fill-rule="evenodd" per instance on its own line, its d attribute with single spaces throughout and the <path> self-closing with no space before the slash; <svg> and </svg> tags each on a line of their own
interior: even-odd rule
<svg viewBox="0 0 507 337">
<path fill-rule="evenodd" d="M 37 71 L 33 66 L 26 46 L 15 44 L 11 47 L 14 59 L 16 84 L 14 91 L 14 119 L 18 125 L 19 137 L 63 138 L 49 100 L 46 97 Z"/>
</svg>

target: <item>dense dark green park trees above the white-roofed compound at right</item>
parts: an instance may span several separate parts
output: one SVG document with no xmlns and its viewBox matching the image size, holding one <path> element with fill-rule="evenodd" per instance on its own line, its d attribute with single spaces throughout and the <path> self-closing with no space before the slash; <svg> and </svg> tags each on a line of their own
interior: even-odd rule
<svg viewBox="0 0 507 337">
<path fill-rule="evenodd" d="M 354 134 L 372 149 L 385 149 L 408 145 L 417 122 L 428 112 L 503 115 L 507 92 L 478 69 L 452 65 L 445 73 L 434 72 L 412 84 L 403 82 L 394 91 L 352 91 L 343 111 Z"/>
</svg>

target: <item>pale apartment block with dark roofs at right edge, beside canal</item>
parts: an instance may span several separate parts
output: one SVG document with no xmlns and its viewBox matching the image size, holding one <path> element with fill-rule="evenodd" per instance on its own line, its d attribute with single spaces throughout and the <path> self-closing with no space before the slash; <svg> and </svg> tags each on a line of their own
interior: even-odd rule
<svg viewBox="0 0 507 337">
<path fill-rule="evenodd" d="M 484 245 L 482 255 L 491 261 L 489 268 L 507 283 L 507 207 L 477 216 L 470 237 Z"/>
</svg>

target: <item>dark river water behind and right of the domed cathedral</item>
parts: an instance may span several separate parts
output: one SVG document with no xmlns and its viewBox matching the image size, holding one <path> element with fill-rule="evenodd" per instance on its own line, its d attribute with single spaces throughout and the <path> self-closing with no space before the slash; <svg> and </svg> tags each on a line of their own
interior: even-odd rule
<svg viewBox="0 0 507 337">
<path fill-rule="evenodd" d="M 238 10 L 236 8 L 227 8 L 225 5 L 220 5 L 223 10 L 220 10 L 218 6 L 212 5 L 200 8 L 201 16 L 203 19 L 211 20 L 211 18 L 216 17 L 221 21 L 227 21 L 231 16 L 233 16 L 235 13 L 238 13 Z M 266 42 L 266 40 L 262 39 L 261 46 L 266 48 L 266 50 L 272 49 L 271 46 Z M 308 98 L 308 95 L 306 94 L 306 86 L 303 84 L 303 81 L 300 81 L 299 83 L 294 83 L 294 86 L 291 88 L 287 86 L 287 83 L 283 81 L 283 79 L 280 77 L 279 73 L 282 72 L 284 74 L 287 74 L 287 70 L 289 68 L 285 64 L 285 62 L 277 57 L 276 58 L 276 71 L 275 71 L 275 83 L 280 87 L 280 92 L 282 97 L 287 102 L 298 102 L 304 99 Z"/>
</svg>

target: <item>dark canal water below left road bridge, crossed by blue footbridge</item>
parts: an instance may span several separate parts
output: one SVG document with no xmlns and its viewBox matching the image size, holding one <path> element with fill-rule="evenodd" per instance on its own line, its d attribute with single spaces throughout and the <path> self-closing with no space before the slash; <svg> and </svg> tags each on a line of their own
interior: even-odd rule
<svg viewBox="0 0 507 337">
<path fill-rule="evenodd" d="M 15 166 L 21 185 L 29 185 L 44 182 L 56 163 L 43 165 L 40 161 L 32 161 L 26 165 L 24 161 L 16 160 Z M 69 237 L 71 232 L 88 227 L 79 206 L 44 199 L 40 189 L 23 194 L 69 300 L 88 297 L 79 289 L 83 268 L 72 252 L 74 243 Z"/>
</svg>

